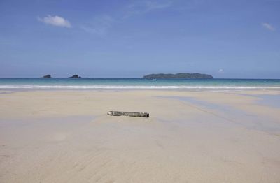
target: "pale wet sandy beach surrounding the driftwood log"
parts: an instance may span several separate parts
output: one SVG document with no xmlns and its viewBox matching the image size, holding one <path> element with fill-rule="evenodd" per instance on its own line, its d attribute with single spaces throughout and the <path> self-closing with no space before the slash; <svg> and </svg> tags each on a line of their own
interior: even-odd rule
<svg viewBox="0 0 280 183">
<path fill-rule="evenodd" d="M 279 90 L 1 91 L 0 182 L 280 182 L 279 98 Z"/>
</svg>

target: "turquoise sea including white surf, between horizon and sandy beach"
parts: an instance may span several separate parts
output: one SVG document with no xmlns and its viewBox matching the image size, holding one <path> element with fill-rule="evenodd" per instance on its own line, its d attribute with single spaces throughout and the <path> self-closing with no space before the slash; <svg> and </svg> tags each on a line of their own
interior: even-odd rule
<svg viewBox="0 0 280 183">
<path fill-rule="evenodd" d="M 280 89 L 276 79 L 0 78 L 0 89 Z"/>
</svg>

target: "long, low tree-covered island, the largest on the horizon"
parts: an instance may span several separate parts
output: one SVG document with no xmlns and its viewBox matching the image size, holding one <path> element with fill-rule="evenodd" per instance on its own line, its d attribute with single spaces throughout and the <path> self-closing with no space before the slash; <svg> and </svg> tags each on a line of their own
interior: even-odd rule
<svg viewBox="0 0 280 183">
<path fill-rule="evenodd" d="M 188 78 L 188 79 L 213 79 L 212 75 L 209 74 L 201 74 L 201 73 L 176 73 L 176 74 L 149 74 L 144 75 L 145 79 L 151 78 Z"/>
</svg>

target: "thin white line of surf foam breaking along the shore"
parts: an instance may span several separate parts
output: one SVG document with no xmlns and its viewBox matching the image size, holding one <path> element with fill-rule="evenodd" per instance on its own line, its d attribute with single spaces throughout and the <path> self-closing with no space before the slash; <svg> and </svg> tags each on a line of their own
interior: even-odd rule
<svg viewBox="0 0 280 183">
<path fill-rule="evenodd" d="M 260 86 L 0 85 L 0 89 L 280 89 Z"/>
</svg>

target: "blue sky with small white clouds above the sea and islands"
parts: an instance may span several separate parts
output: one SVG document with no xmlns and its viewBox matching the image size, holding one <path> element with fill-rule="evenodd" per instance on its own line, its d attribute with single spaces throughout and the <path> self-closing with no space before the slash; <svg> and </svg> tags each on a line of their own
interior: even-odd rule
<svg viewBox="0 0 280 183">
<path fill-rule="evenodd" d="M 280 0 L 0 0 L 0 77 L 280 78 Z"/>
</svg>

